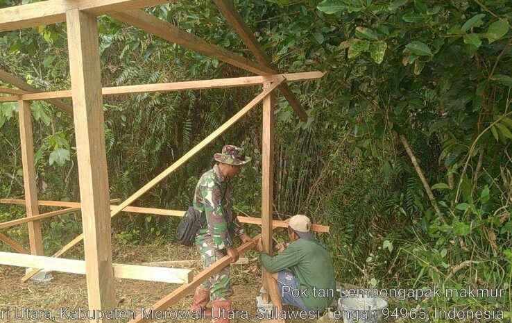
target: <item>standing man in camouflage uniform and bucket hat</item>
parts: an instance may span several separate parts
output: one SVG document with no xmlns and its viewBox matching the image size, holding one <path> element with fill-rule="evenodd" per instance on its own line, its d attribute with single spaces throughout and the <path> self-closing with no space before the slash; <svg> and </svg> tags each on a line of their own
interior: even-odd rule
<svg viewBox="0 0 512 323">
<path fill-rule="evenodd" d="M 238 251 L 233 246 L 233 238 L 241 242 L 253 241 L 246 235 L 236 215 L 233 213 L 233 199 L 230 179 L 240 172 L 241 165 L 250 161 L 244 149 L 230 144 L 222 148 L 221 154 L 214 154 L 217 163 L 213 169 L 200 177 L 194 195 L 194 210 L 201 217 L 206 217 L 206 226 L 196 235 L 196 247 L 199 250 L 203 267 L 210 267 L 216 260 L 228 254 L 232 262 L 238 260 Z M 191 310 L 200 311 L 212 317 L 212 310 L 206 308 L 211 300 L 215 323 L 227 323 L 230 320 L 221 315 L 231 309 L 230 266 L 210 277 L 196 288 L 194 304 Z M 219 315 L 220 314 L 220 315 Z M 219 317 L 220 316 L 220 317 Z"/>
</svg>

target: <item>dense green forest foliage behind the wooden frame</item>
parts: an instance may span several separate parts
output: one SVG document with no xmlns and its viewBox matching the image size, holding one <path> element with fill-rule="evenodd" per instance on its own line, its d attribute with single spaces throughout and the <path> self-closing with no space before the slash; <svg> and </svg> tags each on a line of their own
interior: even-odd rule
<svg viewBox="0 0 512 323">
<path fill-rule="evenodd" d="M 280 70 L 326 72 L 321 81 L 291 85 L 307 107 L 307 122 L 299 122 L 284 99 L 275 110 L 276 217 L 306 213 L 332 227 L 324 239 L 339 281 L 509 290 L 512 3 L 235 2 Z M 250 57 L 210 1 L 149 11 Z M 247 75 L 108 17 L 100 17 L 100 34 L 104 85 Z M 1 67 L 45 90 L 69 88 L 66 42 L 65 24 L 4 33 Z M 257 91 L 105 97 L 112 198 L 135 192 Z M 2 197 L 23 194 L 16 109 L 4 103 L 0 110 Z M 72 118 L 46 103 L 32 109 L 41 199 L 78 200 Z M 210 156 L 233 142 L 255 160 L 239 176 L 237 208 L 258 214 L 260 120 L 250 114 L 138 205 L 184 209 L 198 176 L 212 165 Z M 18 206 L 1 210 L 2 221 L 23 213 Z M 114 238 L 173 240 L 175 221 L 117 217 Z M 49 253 L 80 231 L 67 217 L 45 226 Z M 18 227 L 9 233 L 26 238 Z M 425 299 L 424 306 L 512 310 L 509 296 Z"/>
</svg>

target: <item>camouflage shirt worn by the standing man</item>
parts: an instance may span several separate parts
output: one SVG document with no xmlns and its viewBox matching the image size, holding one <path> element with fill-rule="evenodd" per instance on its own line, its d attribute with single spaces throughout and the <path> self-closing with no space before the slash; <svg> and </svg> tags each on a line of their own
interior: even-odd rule
<svg viewBox="0 0 512 323">
<path fill-rule="evenodd" d="M 226 249 L 232 245 L 232 237 L 245 233 L 233 215 L 230 183 L 222 176 L 218 165 L 200 177 L 194 194 L 194 210 L 196 214 L 204 214 L 207 222 L 207 227 L 198 231 L 196 240 L 202 240 L 212 249 Z"/>
</svg>

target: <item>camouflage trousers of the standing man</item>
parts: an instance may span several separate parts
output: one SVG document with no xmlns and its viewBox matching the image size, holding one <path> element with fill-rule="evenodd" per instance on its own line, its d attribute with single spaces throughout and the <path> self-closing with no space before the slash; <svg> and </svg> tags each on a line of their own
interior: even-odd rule
<svg viewBox="0 0 512 323">
<path fill-rule="evenodd" d="M 198 235 L 196 237 L 196 247 L 201 255 L 201 260 L 203 260 L 204 269 L 225 256 L 225 251 L 212 247 L 211 239 L 210 235 Z M 228 301 L 233 295 L 230 266 L 211 276 L 202 285 L 210 290 L 211 301 Z"/>
</svg>

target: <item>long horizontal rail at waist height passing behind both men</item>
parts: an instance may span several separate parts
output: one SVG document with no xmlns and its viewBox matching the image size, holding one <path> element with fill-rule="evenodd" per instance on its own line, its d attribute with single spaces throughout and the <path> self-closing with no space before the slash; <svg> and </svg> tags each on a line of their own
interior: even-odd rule
<svg viewBox="0 0 512 323">
<path fill-rule="evenodd" d="M 0 203 L 5 204 L 25 204 L 24 199 L 0 199 Z M 80 206 L 80 203 L 78 202 L 65 202 L 65 201 L 39 201 L 40 206 L 63 206 L 63 207 L 69 207 L 69 206 Z M 110 210 L 114 210 L 114 208 L 117 208 L 117 206 L 110 206 Z M 167 210 L 165 208 L 142 208 L 139 206 L 127 206 L 123 209 L 123 212 L 128 213 L 142 213 L 142 214 L 152 214 L 152 215 L 165 215 L 170 217 L 182 217 L 185 211 L 183 210 Z M 262 225 L 262 219 L 259 217 L 238 217 L 238 220 L 241 223 L 246 224 L 256 224 L 261 226 Z M 6 223 L 6 222 L 5 222 Z M 287 228 L 288 222 L 286 221 L 280 221 L 280 220 L 273 220 L 272 222 L 273 226 L 276 228 Z M 1 229 L 1 224 L 0 224 Z M 312 231 L 315 232 L 323 232 L 323 233 L 329 233 L 330 226 L 324 226 L 321 224 L 312 224 L 311 226 Z"/>
</svg>

